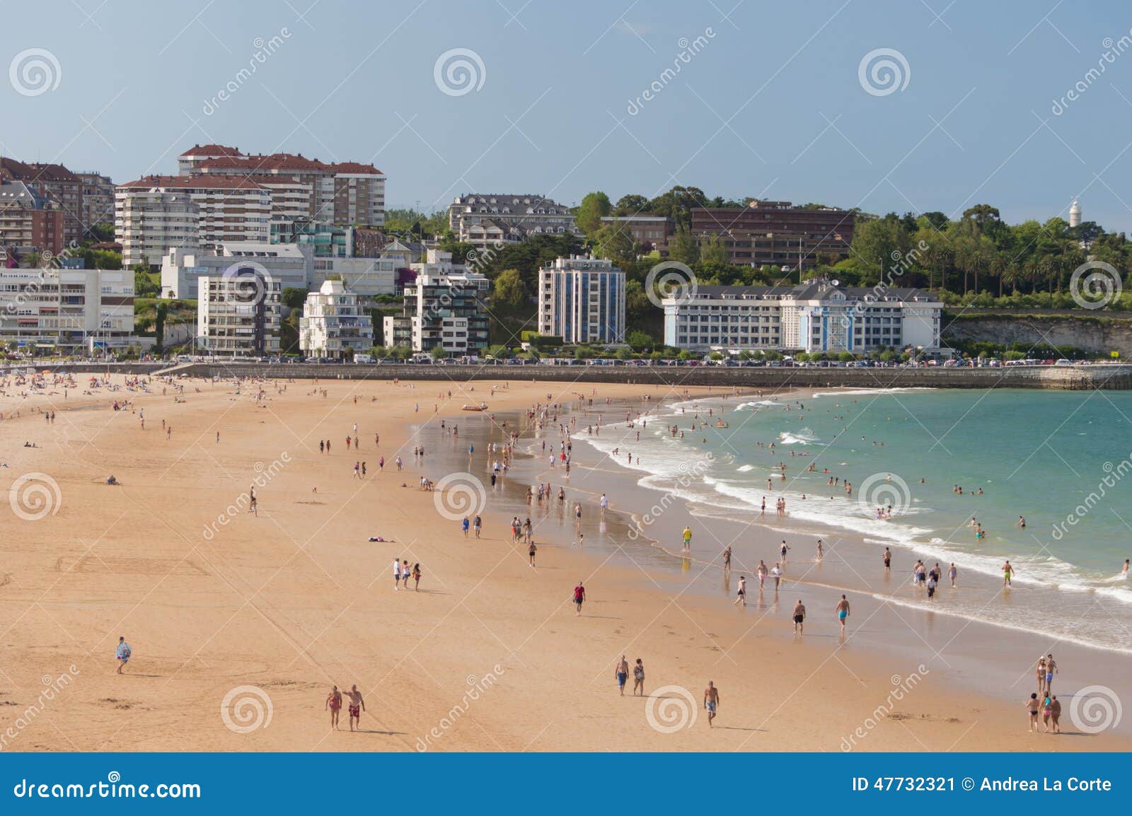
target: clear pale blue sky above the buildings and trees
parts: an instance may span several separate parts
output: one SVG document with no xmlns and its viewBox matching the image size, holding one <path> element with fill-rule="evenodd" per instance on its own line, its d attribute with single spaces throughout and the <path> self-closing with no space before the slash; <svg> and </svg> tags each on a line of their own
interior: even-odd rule
<svg viewBox="0 0 1132 816">
<path fill-rule="evenodd" d="M 175 172 L 195 143 L 372 161 L 388 206 L 422 208 L 683 183 L 876 213 L 990 203 L 1020 221 L 1080 196 L 1087 220 L 1132 231 L 1132 49 L 1086 79 L 1106 38 L 1129 35 L 1127 3 L 311 2 L 3 2 L 0 67 L 37 48 L 60 74 L 34 96 L 0 81 L 0 153 L 119 182 Z M 479 55 L 482 87 L 441 93 L 434 67 L 452 49 Z M 903 55 L 906 87 L 866 93 L 876 49 Z"/>
</svg>

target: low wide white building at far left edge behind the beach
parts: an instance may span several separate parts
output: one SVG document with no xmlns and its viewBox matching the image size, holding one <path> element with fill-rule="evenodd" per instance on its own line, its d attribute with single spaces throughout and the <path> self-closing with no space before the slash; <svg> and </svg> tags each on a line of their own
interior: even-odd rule
<svg viewBox="0 0 1132 816">
<path fill-rule="evenodd" d="M 138 343 L 128 269 L 0 269 L 0 341 L 36 353 Z"/>
</svg>

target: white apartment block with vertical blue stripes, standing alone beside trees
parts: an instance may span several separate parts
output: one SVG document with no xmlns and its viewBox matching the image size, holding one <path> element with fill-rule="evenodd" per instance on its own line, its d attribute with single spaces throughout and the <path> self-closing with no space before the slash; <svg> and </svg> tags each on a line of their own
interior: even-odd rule
<svg viewBox="0 0 1132 816">
<path fill-rule="evenodd" d="M 539 334 L 566 343 L 625 340 L 625 273 L 606 258 L 556 258 L 539 269 Z"/>
</svg>

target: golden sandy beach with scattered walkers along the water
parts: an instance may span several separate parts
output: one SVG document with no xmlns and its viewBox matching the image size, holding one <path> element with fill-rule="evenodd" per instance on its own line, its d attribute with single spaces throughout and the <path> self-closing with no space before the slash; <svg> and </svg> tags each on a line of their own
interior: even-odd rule
<svg viewBox="0 0 1132 816">
<path fill-rule="evenodd" d="M 778 600 L 753 592 L 746 609 L 736 607 L 738 565 L 724 583 L 718 552 L 697 551 L 685 565 L 648 542 L 625 546 L 623 514 L 655 497 L 578 445 L 569 480 L 520 457 L 506 484 L 486 487 L 481 538 L 465 538 L 452 512 L 458 497 L 421 490 L 421 478 L 471 470 L 486 483 L 488 444 L 512 430 L 530 443 L 524 411 L 576 405 L 578 386 L 281 378 L 238 392 L 232 381 L 185 379 L 178 394 L 157 378 L 128 390 L 115 375 L 118 390 L 85 394 L 87 377 L 66 396 L 62 386 L 22 396 L 27 389 L 10 380 L 0 396 L 0 488 L 16 488 L 0 543 L 5 750 L 1132 747 L 1123 732 L 1081 733 L 1067 712 L 1066 733 L 1027 732 L 1027 661 L 1041 650 L 1038 638 L 1031 646 L 994 627 L 855 598 L 842 642 L 837 595 L 821 586 L 843 585 L 842 575 L 808 574 L 801 638 L 786 594 L 797 587 Z M 617 411 L 649 410 L 644 396 L 652 405 L 685 396 L 585 388 L 595 405 L 625 401 Z M 114 411 L 114 401 L 129 404 Z M 489 411 L 461 411 L 481 401 Z M 354 423 L 360 452 L 346 447 Z M 552 447 L 557 428 L 546 432 Z M 366 463 L 365 478 L 355 462 Z M 508 519 L 543 473 L 554 492 L 565 486 L 567 512 L 555 500 L 541 515 L 523 513 L 537 522 L 531 568 Z M 106 483 L 111 474 L 119 486 Z M 241 498 L 254 483 L 258 514 Z M 614 497 L 603 524 L 602 491 Z M 574 501 L 585 546 L 568 517 Z M 672 508 L 663 525 L 686 519 Z M 734 531 L 756 533 L 757 519 Z M 864 544 L 847 553 L 854 548 Z M 395 558 L 420 564 L 419 592 L 394 591 Z M 581 617 L 572 604 L 578 579 L 588 589 Z M 118 675 L 121 636 L 132 654 Z M 1017 660 L 1020 679 L 981 668 L 994 662 L 985 655 L 1001 656 L 1003 641 L 1002 665 Z M 1055 693 L 1120 682 L 1120 659 L 1061 644 L 1058 653 Z M 643 660 L 646 696 L 631 695 L 632 676 L 618 694 L 621 654 Z M 720 689 L 715 728 L 703 710 L 709 680 Z M 333 685 L 363 695 L 360 732 L 350 732 L 345 711 L 340 729 L 329 728 Z"/>
</svg>

